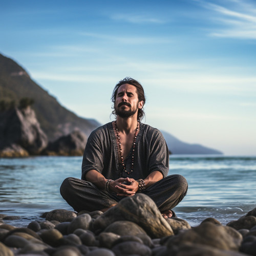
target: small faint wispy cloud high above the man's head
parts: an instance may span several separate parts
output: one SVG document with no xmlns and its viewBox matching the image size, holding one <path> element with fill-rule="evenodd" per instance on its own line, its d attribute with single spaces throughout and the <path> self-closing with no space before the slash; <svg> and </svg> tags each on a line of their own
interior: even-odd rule
<svg viewBox="0 0 256 256">
<path fill-rule="evenodd" d="M 165 20 L 141 14 L 115 14 L 111 19 L 134 24 L 164 24 Z"/>
</svg>

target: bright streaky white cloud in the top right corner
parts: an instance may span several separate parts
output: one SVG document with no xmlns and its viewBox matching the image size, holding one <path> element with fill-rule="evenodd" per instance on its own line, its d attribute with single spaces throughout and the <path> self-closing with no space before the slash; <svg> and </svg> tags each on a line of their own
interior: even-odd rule
<svg viewBox="0 0 256 256">
<path fill-rule="evenodd" d="M 229 6 L 212 4 L 205 1 L 197 1 L 218 16 L 214 15 L 215 22 L 222 28 L 210 32 L 210 36 L 256 39 L 256 5 L 249 5 L 246 0 L 232 1 Z"/>
</svg>

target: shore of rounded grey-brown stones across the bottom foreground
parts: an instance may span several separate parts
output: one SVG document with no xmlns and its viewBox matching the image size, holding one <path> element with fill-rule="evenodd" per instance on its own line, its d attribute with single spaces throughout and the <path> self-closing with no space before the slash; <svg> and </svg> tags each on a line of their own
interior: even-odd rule
<svg viewBox="0 0 256 256">
<path fill-rule="evenodd" d="M 207 218 L 196 227 L 164 219 L 144 194 L 101 211 L 55 209 L 27 228 L 6 224 L 0 214 L 0 256 L 230 256 L 256 255 L 256 208 L 222 225 Z"/>
</svg>

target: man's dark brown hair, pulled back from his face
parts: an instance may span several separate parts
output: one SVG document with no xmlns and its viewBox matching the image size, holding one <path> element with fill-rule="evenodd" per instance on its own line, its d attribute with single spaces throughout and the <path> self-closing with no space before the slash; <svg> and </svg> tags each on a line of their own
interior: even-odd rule
<svg viewBox="0 0 256 256">
<path fill-rule="evenodd" d="M 116 110 L 115 110 L 115 103 L 116 103 L 116 95 L 117 95 L 117 91 L 118 91 L 118 88 L 122 85 L 122 84 L 125 84 L 125 83 L 128 83 L 128 84 L 131 84 L 132 86 L 135 86 L 136 89 L 137 89 L 137 94 L 138 94 L 138 99 L 139 101 L 143 101 L 143 106 L 146 102 L 146 98 L 145 98 L 145 94 L 144 94 L 144 89 L 143 87 L 141 86 L 141 84 L 136 81 L 135 79 L 131 78 L 131 77 L 125 77 L 124 79 L 120 80 L 115 88 L 114 88 L 114 91 L 113 91 L 113 94 L 112 94 L 112 97 L 111 97 L 111 100 L 112 102 L 114 103 L 114 106 L 112 107 L 113 111 L 112 111 L 112 114 L 116 117 Z M 143 108 L 142 109 L 138 109 L 138 117 L 137 119 L 138 120 L 142 120 L 143 117 L 144 117 L 145 113 L 143 111 Z"/>
</svg>

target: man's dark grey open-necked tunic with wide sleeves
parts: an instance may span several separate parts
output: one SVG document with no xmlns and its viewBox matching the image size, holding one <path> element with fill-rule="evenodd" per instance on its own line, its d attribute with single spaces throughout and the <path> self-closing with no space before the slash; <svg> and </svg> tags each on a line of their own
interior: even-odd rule
<svg viewBox="0 0 256 256">
<path fill-rule="evenodd" d="M 132 148 L 124 160 L 127 172 L 132 165 Z M 118 145 L 112 122 L 98 127 L 88 138 L 82 160 L 82 180 L 86 173 L 95 169 L 106 179 L 118 178 L 145 179 L 158 170 L 166 177 L 169 171 L 169 153 L 161 132 L 150 125 L 140 123 L 134 152 L 134 168 L 131 174 L 124 172 L 118 162 Z"/>
</svg>

